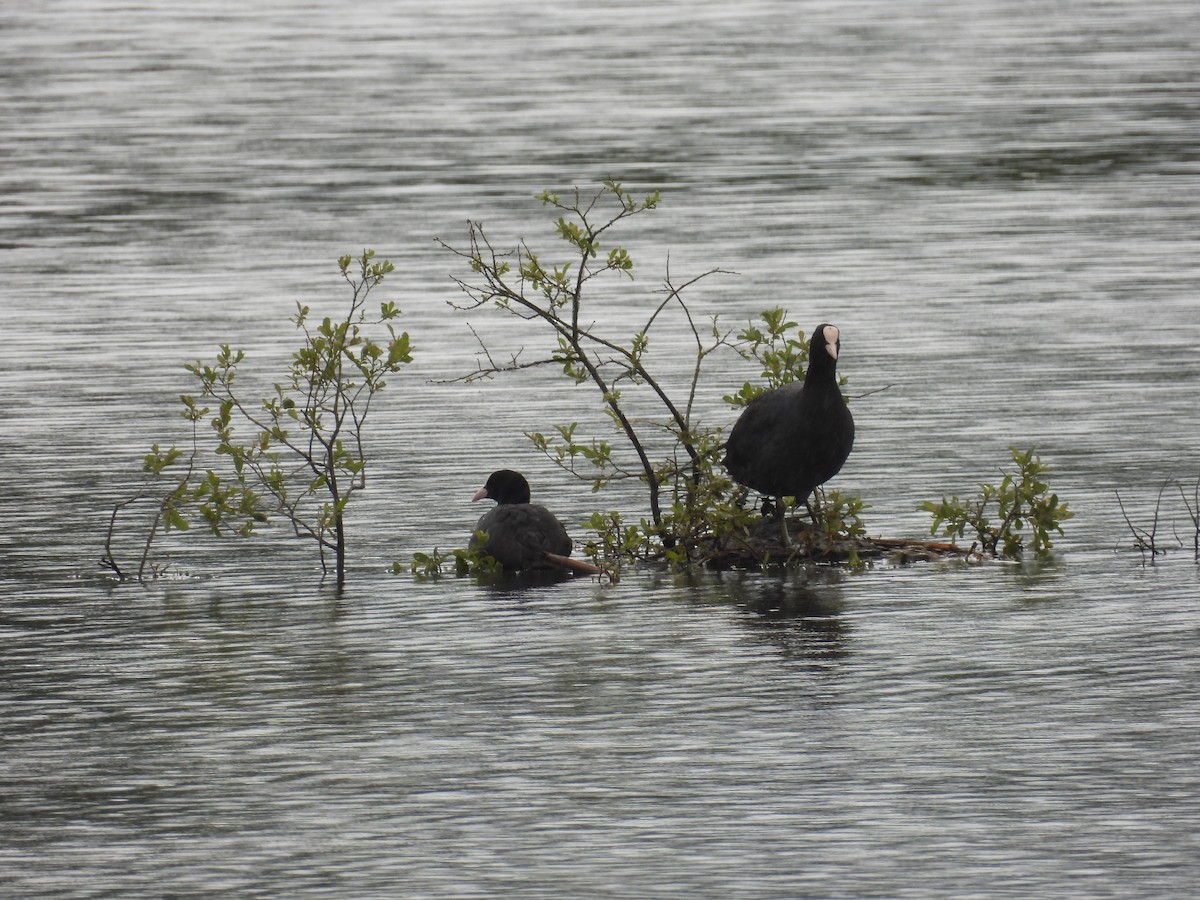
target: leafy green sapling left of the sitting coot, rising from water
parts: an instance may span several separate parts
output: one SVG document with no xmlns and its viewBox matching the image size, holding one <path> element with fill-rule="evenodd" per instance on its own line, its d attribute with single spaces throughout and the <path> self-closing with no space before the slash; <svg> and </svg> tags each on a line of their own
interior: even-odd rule
<svg viewBox="0 0 1200 900">
<path fill-rule="evenodd" d="M 212 362 L 186 366 L 198 383 L 196 395 L 180 397 L 181 415 L 193 427 L 192 450 L 156 444 L 144 460 L 152 480 L 178 466 L 184 472 L 162 500 L 139 578 L 160 523 L 169 532 L 202 521 L 214 534 L 247 535 L 280 515 L 295 534 L 317 544 L 325 572 L 326 553 L 332 553 L 337 584 L 344 584 L 346 509 L 366 487 L 362 431 L 386 378 L 412 361 L 412 347 L 408 334 L 396 330 L 400 310 L 394 302 L 380 304 L 378 316 L 367 314 L 367 296 L 394 271 L 392 264 L 365 250 L 341 257 L 337 265 L 350 287 L 346 314 L 313 323 L 310 307 L 296 304 L 290 320 L 304 341 L 268 396 L 252 400 L 241 390 L 239 367 L 246 354 L 230 344 L 222 344 Z M 218 464 L 198 469 L 196 430 L 204 424 L 215 438 Z M 110 542 L 112 523 L 104 563 L 121 575 L 108 552 Z"/>
</svg>

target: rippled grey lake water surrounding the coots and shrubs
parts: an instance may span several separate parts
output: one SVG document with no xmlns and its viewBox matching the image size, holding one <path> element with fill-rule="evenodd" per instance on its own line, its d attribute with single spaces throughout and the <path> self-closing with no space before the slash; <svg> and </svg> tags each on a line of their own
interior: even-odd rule
<svg viewBox="0 0 1200 900">
<path fill-rule="evenodd" d="M 12 895 L 1181 896 L 1200 878 L 1200 7 L 186 5 L 0 12 L 0 874 Z M 544 188 L 664 203 L 622 235 L 728 324 L 842 330 L 868 529 L 1036 445 L 1076 511 L 1040 565 L 526 590 L 392 576 L 504 466 L 569 523 L 643 512 L 522 432 L 533 371 L 445 384 L 461 245 L 553 258 Z M 269 383 L 374 247 L 416 361 L 380 395 L 350 583 L 282 529 L 96 566 L 181 365 Z M 686 378 L 680 322 L 653 349 Z M 698 404 L 752 372 L 715 359 Z M 886 390 L 880 390 L 886 389 Z M 582 535 L 582 529 L 574 532 Z M 1180 547 L 1180 545 L 1186 545 Z"/>
</svg>

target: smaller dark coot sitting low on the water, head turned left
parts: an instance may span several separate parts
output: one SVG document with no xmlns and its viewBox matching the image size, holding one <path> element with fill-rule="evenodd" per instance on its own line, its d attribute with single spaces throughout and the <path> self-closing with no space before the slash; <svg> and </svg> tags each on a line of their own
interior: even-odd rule
<svg viewBox="0 0 1200 900">
<path fill-rule="evenodd" d="M 496 500 L 496 509 L 484 514 L 475 526 L 476 532 L 487 533 L 487 540 L 480 544 L 473 536 L 473 548 L 482 550 L 509 571 L 551 568 L 556 560 L 547 553 L 571 554 L 571 539 L 563 523 L 545 506 L 529 503 L 529 482 L 520 472 L 493 472 L 472 497 L 484 498 Z"/>
</svg>

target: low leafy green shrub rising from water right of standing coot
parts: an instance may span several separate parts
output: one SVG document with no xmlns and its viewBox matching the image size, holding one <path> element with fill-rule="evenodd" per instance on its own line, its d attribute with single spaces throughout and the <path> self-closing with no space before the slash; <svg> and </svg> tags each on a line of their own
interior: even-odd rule
<svg viewBox="0 0 1200 900">
<path fill-rule="evenodd" d="M 930 534 L 937 534 L 938 528 L 947 538 L 971 533 L 983 552 L 1008 559 L 1019 559 L 1025 550 L 1046 553 L 1054 546 L 1050 533 L 1062 534 L 1062 523 L 1075 514 L 1060 503 L 1058 494 L 1049 492 L 1042 480 L 1048 468 L 1033 448 L 1021 451 L 1010 446 L 1009 452 L 1016 472 L 1001 472 L 998 485 L 982 484 L 978 497 L 942 497 L 941 503 L 920 504 L 918 509 L 934 516 Z"/>
</svg>

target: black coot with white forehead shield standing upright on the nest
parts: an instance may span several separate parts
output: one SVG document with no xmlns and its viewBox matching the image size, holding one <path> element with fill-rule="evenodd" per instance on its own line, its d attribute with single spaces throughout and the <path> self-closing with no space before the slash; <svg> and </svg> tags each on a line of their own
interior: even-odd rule
<svg viewBox="0 0 1200 900">
<path fill-rule="evenodd" d="M 838 329 L 817 325 L 804 383 L 767 391 L 743 410 L 725 452 L 734 481 L 808 506 L 812 490 L 838 474 L 854 445 L 854 418 L 838 388 L 840 348 Z"/>
</svg>

